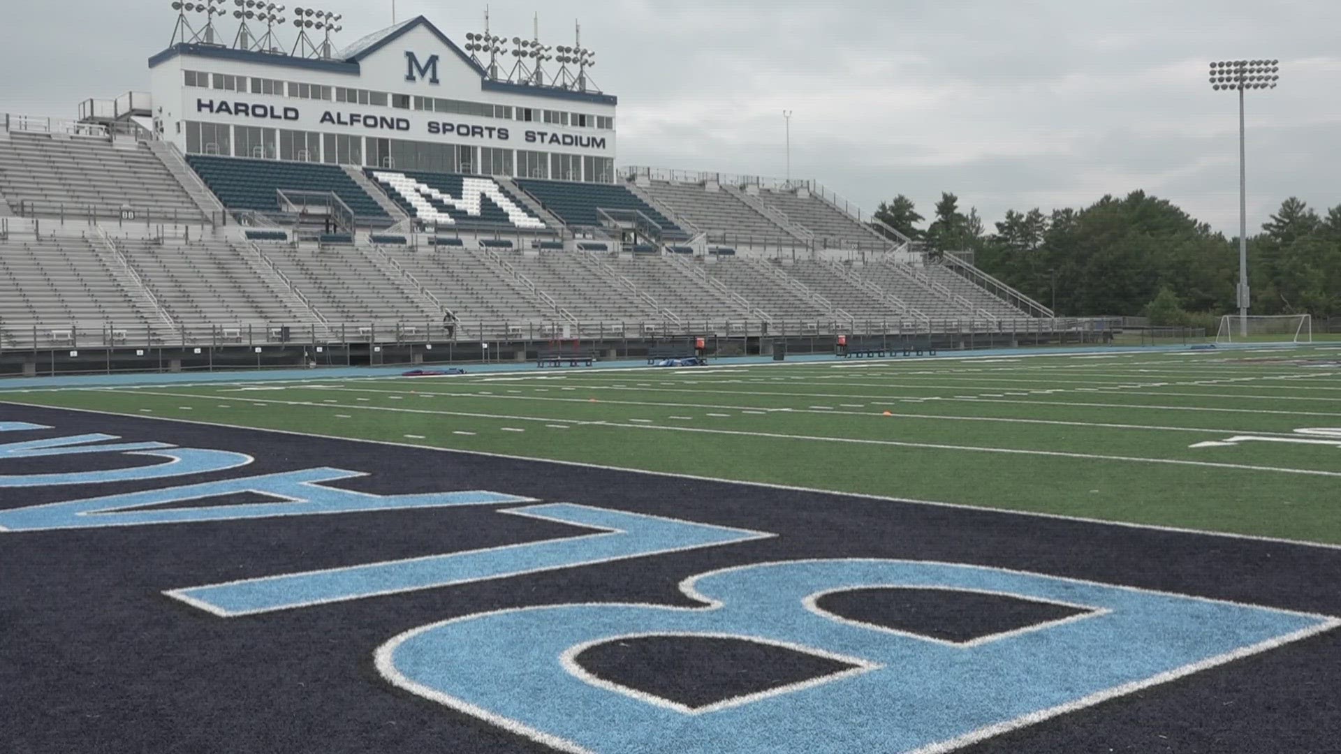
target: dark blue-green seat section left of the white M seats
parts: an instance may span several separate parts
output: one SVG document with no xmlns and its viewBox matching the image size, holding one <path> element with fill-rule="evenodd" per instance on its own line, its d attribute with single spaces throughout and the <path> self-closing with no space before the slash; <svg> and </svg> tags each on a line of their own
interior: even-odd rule
<svg viewBox="0 0 1341 754">
<path fill-rule="evenodd" d="M 339 165 L 212 154 L 188 154 L 186 161 L 229 209 L 279 212 L 276 191 L 280 189 L 331 192 L 361 220 L 388 224 L 392 220 Z"/>
</svg>

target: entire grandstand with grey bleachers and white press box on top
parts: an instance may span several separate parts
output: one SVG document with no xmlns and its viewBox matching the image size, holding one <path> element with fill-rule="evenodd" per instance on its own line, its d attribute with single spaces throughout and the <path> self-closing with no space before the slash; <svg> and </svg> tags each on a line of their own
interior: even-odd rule
<svg viewBox="0 0 1341 754">
<path fill-rule="evenodd" d="M 174 7 L 148 93 L 0 119 L 0 372 L 1102 337 L 815 181 L 617 168 L 581 39 Z"/>
</svg>

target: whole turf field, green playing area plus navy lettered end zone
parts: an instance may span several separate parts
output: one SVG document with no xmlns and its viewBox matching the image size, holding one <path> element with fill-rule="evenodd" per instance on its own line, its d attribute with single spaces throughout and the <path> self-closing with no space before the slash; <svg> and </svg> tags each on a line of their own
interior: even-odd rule
<svg viewBox="0 0 1341 754">
<path fill-rule="evenodd" d="M 0 749 L 1333 751 L 1338 353 L 13 382 Z"/>
</svg>

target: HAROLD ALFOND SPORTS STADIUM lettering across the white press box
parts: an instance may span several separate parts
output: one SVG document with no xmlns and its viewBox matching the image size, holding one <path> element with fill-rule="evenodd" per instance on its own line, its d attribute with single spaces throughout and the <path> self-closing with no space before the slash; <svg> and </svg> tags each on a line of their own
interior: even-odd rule
<svg viewBox="0 0 1341 754">
<path fill-rule="evenodd" d="M 276 107 L 274 105 L 257 105 L 227 99 L 196 99 L 196 113 L 211 115 L 232 115 L 252 121 L 303 121 L 303 111 L 299 107 Z M 413 133 L 416 129 L 409 118 L 392 115 L 369 115 L 363 113 L 322 110 L 316 122 L 333 126 L 358 126 L 369 130 Z M 512 141 L 512 129 L 499 126 L 476 126 L 471 123 L 452 123 L 447 121 L 428 121 L 422 125 L 422 133 L 429 136 L 452 136 L 459 138 L 480 138 L 496 141 Z M 599 136 L 561 134 L 542 130 L 523 130 L 522 141 L 536 146 L 567 146 L 579 149 L 606 149 L 606 138 Z"/>
</svg>

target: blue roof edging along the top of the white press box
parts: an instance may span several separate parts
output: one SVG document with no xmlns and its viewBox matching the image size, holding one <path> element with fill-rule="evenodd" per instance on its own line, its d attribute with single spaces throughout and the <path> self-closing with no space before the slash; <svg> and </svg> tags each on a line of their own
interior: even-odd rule
<svg viewBox="0 0 1341 754">
<path fill-rule="evenodd" d="M 161 63 L 165 63 L 177 55 L 196 55 L 201 58 L 219 58 L 224 60 L 244 60 L 249 63 L 264 63 L 270 66 L 286 66 L 291 68 L 308 68 L 316 71 L 327 71 L 335 74 L 349 74 L 359 75 L 361 66 L 359 62 L 369 55 L 377 52 L 382 47 L 396 42 L 405 34 L 414 28 L 425 27 L 445 44 L 463 63 L 475 70 L 480 75 L 480 89 L 483 91 L 506 91 L 510 94 L 527 94 L 531 97 L 548 97 L 552 99 L 571 99 L 577 102 L 593 102 L 597 105 L 618 105 L 620 98 L 613 94 L 598 94 L 594 91 L 574 91 L 569 89 L 554 89 L 534 86 L 527 83 L 515 83 L 504 80 L 489 80 L 488 72 L 475 62 L 464 50 L 456 46 L 455 42 L 447 38 L 433 21 L 429 21 L 424 16 L 414 16 L 406 21 L 386 27 L 381 31 L 375 31 L 358 42 L 354 42 L 345 50 L 339 52 L 339 59 L 334 60 L 318 60 L 311 58 L 295 58 L 292 55 L 280 55 L 275 52 L 253 52 L 249 50 L 232 50 L 228 47 L 219 47 L 213 44 L 176 44 L 164 50 L 162 52 L 154 55 L 149 59 L 149 67 L 153 68 Z"/>
</svg>

